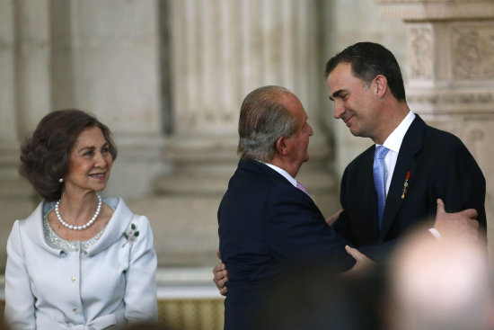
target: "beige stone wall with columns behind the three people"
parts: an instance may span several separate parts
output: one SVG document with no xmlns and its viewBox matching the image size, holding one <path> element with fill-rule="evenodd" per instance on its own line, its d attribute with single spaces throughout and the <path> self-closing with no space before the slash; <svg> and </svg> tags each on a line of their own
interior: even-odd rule
<svg viewBox="0 0 494 330">
<path fill-rule="evenodd" d="M 486 174 L 492 214 L 489 11 L 482 22 L 470 18 L 469 25 L 449 28 L 442 22 L 431 34 L 430 23 L 407 25 L 397 16 L 399 2 L 170 0 L 163 6 L 158 0 L 0 1 L 0 245 L 13 219 L 27 216 L 36 202 L 17 174 L 23 137 L 48 111 L 78 107 L 93 111 L 115 132 L 120 153 L 105 193 L 126 197 L 133 210 L 150 218 L 160 263 L 214 263 L 216 208 L 237 159 L 236 113 L 246 93 L 267 84 L 287 86 L 304 103 L 317 131 L 311 162 L 300 178 L 325 213 L 337 210 L 338 178 L 371 142 L 352 137 L 340 120 L 332 119 L 322 73 L 327 59 L 361 40 L 391 49 L 404 71 L 412 108 L 463 138 Z M 480 3 L 470 1 L 472 8 Z M 472 9 L 468 13 L 474 14 Z M 163 19 L 171 29 L 172 110 L 163 109 L 160 86 L 163 31 L 158 26 Z M 470 46 L 475 31 L 477 48 Z M 467 47 L 432 52 L 434 57 L 424 61 L 428 43 L 445 47 L 445 40 Z M 481 61 L 472 49 L 481 49 Z M 450 76 L 448 63 L 455 63 Z M 430 90 L 438 74 L 443 80 L 437 87 L 453 85 L 465 93 L 424 98 L 420 88 Z M 473 93 L 478 88 L 484 92 Z M 443 105 L 461 115 L 429 102 L 440 95 L 447 96 Z M 172 122 L 166 123 L 172 136 L 163 134 L 164 111 L 172 111 Z M 0 268 L 4 259 L 0 253 Z"/>
</svg>

